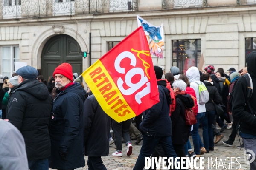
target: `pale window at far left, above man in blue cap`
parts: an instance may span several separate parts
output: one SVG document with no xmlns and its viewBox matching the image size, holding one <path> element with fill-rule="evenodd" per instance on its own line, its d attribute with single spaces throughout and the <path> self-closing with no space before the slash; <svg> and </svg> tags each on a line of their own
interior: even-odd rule
<svg viewBox="0 0 256 170">
<path fill-rule="evenodd" d="M 3 76 L 12 77 L 15 73 L 14 62 L 20 61 L 19 46 L 3 46 L 2 47 L 2 74 Z"/>
</svg>

